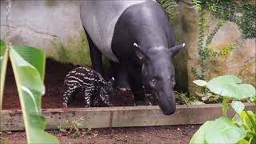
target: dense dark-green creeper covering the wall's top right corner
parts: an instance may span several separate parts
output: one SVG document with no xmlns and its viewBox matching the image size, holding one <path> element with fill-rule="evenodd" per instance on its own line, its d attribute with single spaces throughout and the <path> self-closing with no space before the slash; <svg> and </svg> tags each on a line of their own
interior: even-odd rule
<svg viewBox="0 0 256 144">
<path fill-rule="evenodd" d="M 199 13 L 210 11 L 224 21 L 235 22 L 240 26 L 244 38 L 256 38 L 256 5 L 251 2 L 234 0 L 193 0 L 194 9 Z"/>
</svg>

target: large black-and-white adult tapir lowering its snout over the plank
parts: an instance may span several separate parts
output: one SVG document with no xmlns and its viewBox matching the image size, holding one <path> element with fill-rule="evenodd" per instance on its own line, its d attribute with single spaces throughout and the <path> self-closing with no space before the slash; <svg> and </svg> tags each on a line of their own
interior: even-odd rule
<svg viewBox="0 0 256 144">
<path fill-rule="evenodd" d="M 136 103 L 146 102 L 146 86 L 154 92 L 163 114 L 173 114 L 176 106 L 172 58 L 185 44 L 174 46 L 170 20 L 158 2 L 86 0 L 80 16 L 94 70 L 102 73 L 103 54 L 117 72 L 115 79 L 122 79 L 122 70 L 126 70 Z"/>
</svg>

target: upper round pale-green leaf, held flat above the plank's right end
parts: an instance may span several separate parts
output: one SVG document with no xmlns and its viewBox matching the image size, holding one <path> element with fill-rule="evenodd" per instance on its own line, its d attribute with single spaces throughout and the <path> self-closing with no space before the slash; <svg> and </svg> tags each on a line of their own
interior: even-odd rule
<svg viewBox="0 0 256 144">
<path fill-rule="evenodd" d="M 255 97 L 255 88 L 249 84 L 241 84 L 242 80 L 233 75 L 224 75 L 213 78 L 206 87 L 214 94 L 223 97 L 244 99 Z"/>
</svg>

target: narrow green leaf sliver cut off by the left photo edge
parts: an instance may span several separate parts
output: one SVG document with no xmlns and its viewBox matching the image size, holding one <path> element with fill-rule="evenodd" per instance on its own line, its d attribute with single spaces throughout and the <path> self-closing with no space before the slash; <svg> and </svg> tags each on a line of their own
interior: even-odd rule
<svg viewBox="0 0 256 144">
<path fill-rule="evenodd" d="M 0 39 L 0 110 L 2 109 L 2 97 L 6 78 L 6 67 L 8 61 L 8 52 L 6 43 Z"/>
</svg>

